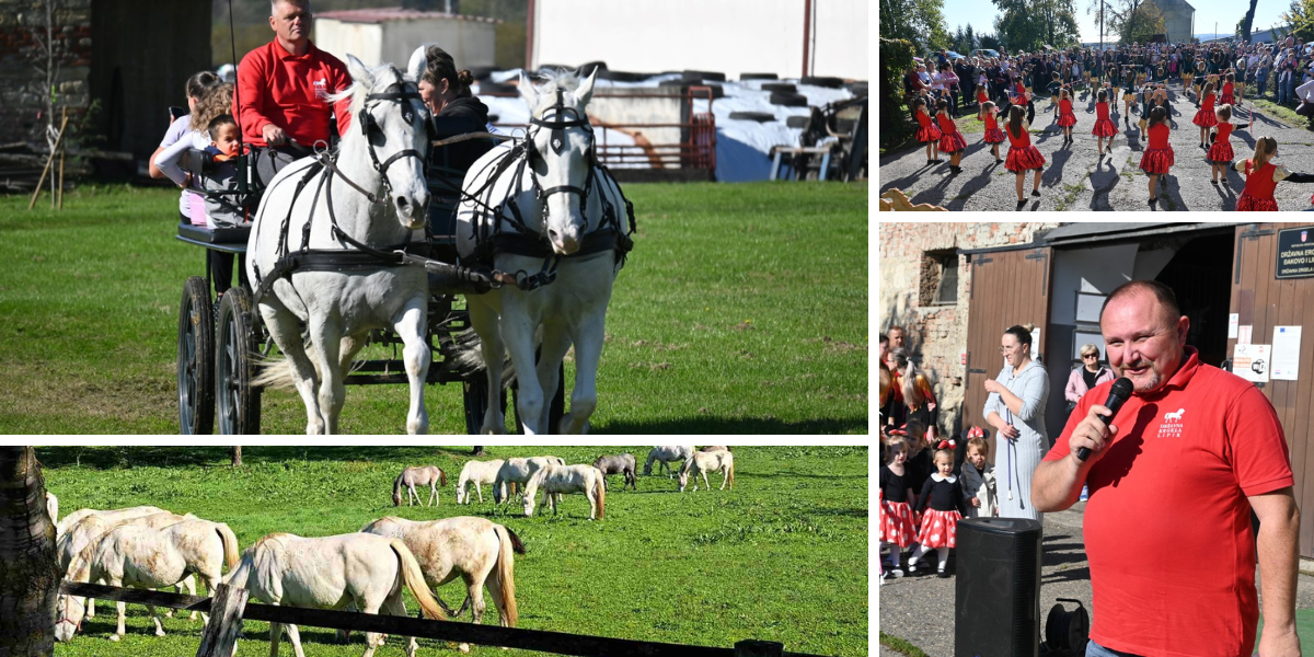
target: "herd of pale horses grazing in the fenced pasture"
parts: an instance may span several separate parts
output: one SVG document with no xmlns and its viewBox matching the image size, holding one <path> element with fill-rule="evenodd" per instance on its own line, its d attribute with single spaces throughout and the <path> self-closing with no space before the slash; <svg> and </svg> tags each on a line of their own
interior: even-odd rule
<svg viewBox="0 0 1314 657">
<path fill-rule="evenodd" d="M 711 489 L 708 472 L 721 473 L 721 490 L 735 487 L 735 457 L 724 445 L 654 447 L 648 455 L 644 474 L 660 461 L 674 476 L 668 463 L 681 461 L 678 478 L 683 491 L 690 477 L 698 490 L 698 477 Z M 637 490 L 635 457 L 629 453 L 602 456 L 591 465 L 568 465 L 556 456 L 469 461 L 461 469 L 456 502 L 472 503 L 469 486 L 484 502 L 482 485 L 491 486 L 493 501 L 505 505 L 519 487 L 524 515 L 532 516 L 537 493 L 553 514 L 566 493 L 582 493 L 589 499 L 589 519 L 600 519 L 606 510 L 606 476 L 622 474 L 622 490 Z M 428 486 L 426 506 L 439 503 L 438 487 L 447 485 L 447 474 L 436 466 L 406 468 L 393 481 L 393 506 L 401 506 L 402 489 L 406 503 L 420 503 L 417 486 Z M 59 519 L 59 501 L 47 493 L 47 512 L 55 523 L 59 568 L 72 582 L 96 582 L 116 587 L 163 589 L 176 586 L 196 594 L 196 578 L 214 591 L 218 583 L 246 589 L 252 599 L 268 604 L 293 607 L 355 610 L 364 614 L 406 616 L 402 602 L 409 589 L 419 602 L 420 612 L 431 619 L 460 618 L 466 610 L 473 622 L 481 623 L 486 608 L 487 587 L 503 627 L 515 627 L 519 611 L 515 602 L 515 555 L 524 555 L 524 544 L 514 531 L 485 518 L 456 516 L 442 520 L 406 520 L 386 516 L 367 523 L 356 533 L 304 537 L 271 533 L 240 552 L 237 535 L 225 523 L 177 515 L 156 506 L 95 510 L 81 509 Z M 227 576 L 223 576 L 223 570 Z M 466 587 L 465 602 L 452 610 L 436 595 L 438 587 L 460 577 Z M 164 625 L 154 606 L 147 607 L 155 623 L 155 635 L 164 636 Z M 76 595 L 59 595 L 59 620 L 55 639 L 71 641 L 81 631 L 85 618 L 95 618 L 96 600 Z M 118 623 L 109 636 L 118 641 L 125 633 L 125 603 L 117 603 Z M 166 615 L 172 615 L 167 611 Z M 194 620 L 197 612 L 191 618 Z M 202 614 L 202 623 L 208 615 Z M 277 654 L 286 631 L 297 657 L 304 657 L 297 625 L 272 623 L 269 650 Z M 339 636 L 346 639 L 344 632 Z M 385 635 L 367 632 L 363 657 L 372 657 L 384 644 Z M 461 644 L 461 652 L 469 645 Z M 409 637 L 407 657 L 414 657 L 417 643 Z"/>
</svg>

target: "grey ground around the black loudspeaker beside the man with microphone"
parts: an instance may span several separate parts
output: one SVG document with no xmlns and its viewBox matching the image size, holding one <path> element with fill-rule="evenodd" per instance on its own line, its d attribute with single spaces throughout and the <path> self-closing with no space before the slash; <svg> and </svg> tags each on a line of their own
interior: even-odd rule
<svg viewBox="0 0 1314 657">
<path fill-rule="evenodd" d="M 1056 514 L 1045 514 L 1042 537 L 1043 564 L 1041 569 L 1041 632 L 1045 619 L 1055 604 L 1055 598 L 1075 598 L 1088 612 L 1091 608 L 1091 569 L 1085 558 L 1081 536 L 1084 503 Z M 954 573 L 955 555 L 949 557 L 949 572 Z M 907 566 L 907 564 L 905 564 Z M 1302 569 L 1309 565 L 1302 564 Z M 1256 574 L 1257 582 L 1257 574 Z M 897 636 L 930 657 L 954 653 L 954 587 L 953 577 L 936 577 L 934 561 L 930 572 L 922 568 L 917 577 L 890 578 L 880 586 L 879 631 Z M 1072 610 L 1072 603 L 1064 603 Z M 1314 577 L 1301 574 L 1296 593 L 1297 608 L 1314 608 Z M 1043 639 L 1043 636 L 1042 636 Z M 895 654 L 890 650 L 884 650 Z"/>
</svg>

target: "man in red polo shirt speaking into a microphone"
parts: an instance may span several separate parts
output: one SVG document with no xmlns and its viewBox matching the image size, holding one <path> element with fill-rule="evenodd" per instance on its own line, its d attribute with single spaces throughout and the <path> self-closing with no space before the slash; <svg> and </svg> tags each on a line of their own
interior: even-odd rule
<svg viewBox="0 0 1314 657">
<path fill-rule="evenodd" d="M 1084 514 L 1093 627 L 1087 657 L 1248 656 L 1259 572 L 1263 657 L 1298 656 L 1300 511 L 1273 406 L 1248 381 L 1201 364 L 1172 290 L 1131 281 L 1100 314 L 1109 364 L 1134 393 L 1105 427 L 1113 382 L 1077 403 L 1035 468 L 1031 503 Z M 1080 448 L 1089 459 L 1076 457 Z"/>
</svg>

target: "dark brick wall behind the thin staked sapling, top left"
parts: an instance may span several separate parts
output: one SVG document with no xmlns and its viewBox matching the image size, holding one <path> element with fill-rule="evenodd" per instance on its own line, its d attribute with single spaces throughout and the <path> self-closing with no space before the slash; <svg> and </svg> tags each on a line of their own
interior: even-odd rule
<svg viewBox="0 0 1314 657">
<path fill-rule="evenodd" d="M 46 89 L 46 76 L 34 64 L 45 64 L 37 54 L 37 35 L 46 35 L 46 3 L 41 0 L 0 0 L 0 143 L 45 143 L 46 95 L 54 93 L 55 125 L 59 112 L 68 108 L 70 124 L 76 124 L 91 104 L 91 0 L 59 0 L 54 13 L 54 43 L 58 75 Z"/>
</svg>

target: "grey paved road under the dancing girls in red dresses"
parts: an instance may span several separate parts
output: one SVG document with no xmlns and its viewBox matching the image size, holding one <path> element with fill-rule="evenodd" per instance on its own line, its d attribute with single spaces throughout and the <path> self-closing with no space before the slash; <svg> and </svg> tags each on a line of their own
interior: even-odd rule
<svg viewBox="0 0 1314 657">
<path fill-rule="evenodd" d="M 1246 187 L 1244 177 L 1230 171 L 1227 184 L 1210 184 L 1210 167 L 1205 151 L 1200 148 L 1200 127 L 1190 122 L 1196 105 L 1181 95 L 1181 83 L 1169 84 L 1168 100 L 1172 108 L 1172 150 L 1176 163 L 1166 177 L 1159 179 L 1158 210 L 1233 210 Z M 1041 197 L 1028 196 L 1025 210 L 1148 210 L 1148 176 L 1139 170 L 1141 154 L 1147 139 L 1133 113 L 1129 126 L 1123 117 L 1116 117 L 1121 133 L 1113 138 L 1113 155 L 1102 158 L 1095 152 L 1095 101 L 1087 92 L 1074 102 L 1077 122 L 1072 129 L 1076 143 L 1064 146 L 1063 135 L 1054 114 L 1045 112 L 1049 99 L 1035 100 L 1035 122 L 1031 125 L 1031 143 L 1045 155 L 1046 168 L 1041 177 Z M 1121 109 L 1121 102 L 1120 102 Z M 963 116 L 971 116 L 974 109 Z M 1233 114 L 1239 124 L 1231 143 L 1236 159 L 1250 158 L 1255 138 L 1268 135 L 1277 139 L 1277 162 L 1293 172 L 1314 172 L 1314 133 L 1289 125 L 1263 112 L 1255 120 L 1255 129 L 1247 130 L 1250 104 Z M 995 164 L 982 134 L 964 134 L 967 154 L 963 172 L 949 172 L 949 156 L 941 154 L 940 164 L 926 164 L 924 146 L 880 158 L 880 191 L 899 188 L 913 204 L 942 205 L 950 210 L 1014 210 L 1017 192 L 1014 175 Z M 1007 142 L 1000 147 L 1000 158 L 1007 158 Z M 1024 193 L 1031 192 L 1031 175 L 1026 176 Z M 1166 187 L 1167 183 L 1167 187 Z M 1280 183 L 1277 206 L 1282 210 L 1307 210 L 1314 184 Z"/>
</svg>

